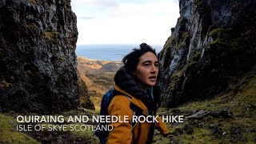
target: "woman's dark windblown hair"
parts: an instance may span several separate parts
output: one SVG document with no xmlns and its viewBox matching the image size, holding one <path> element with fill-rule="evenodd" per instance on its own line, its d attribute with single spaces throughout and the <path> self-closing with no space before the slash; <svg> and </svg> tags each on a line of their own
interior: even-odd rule
<svg viewBox="0 0 256 144">
<path fill-rule="evenodd" d="M 142 43 L 140 44 L 139 49 L 134 48 L 132 52 L 130 52 L 125 56 L 125 58 L 122 58 L 124 67 L 130 72 L 136 70 L 138 66 L 139 58 L 146 52 L 152 52 L 155 56 L 158 57 L 155 50 L 150 45 L 147 45 L 146 43 Z"/>
</svg>

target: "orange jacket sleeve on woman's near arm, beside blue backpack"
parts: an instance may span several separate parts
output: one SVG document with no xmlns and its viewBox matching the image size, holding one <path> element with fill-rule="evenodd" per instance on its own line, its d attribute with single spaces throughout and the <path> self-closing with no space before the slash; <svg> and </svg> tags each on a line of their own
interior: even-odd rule
<svg viewBox="0 0 256 144">
<path fill-rule="evenodd" d="M 106 143 L 131 143 L 132 142 L 132 115 L 130 100 L 123 96 L 115 96 L 108 108 L 110 115 L 118 116 L 119 122 L 111 122 L 113 130 L 110 131 Z M 124 116 L 129 120 L 124 122 Z"/>
</svg>

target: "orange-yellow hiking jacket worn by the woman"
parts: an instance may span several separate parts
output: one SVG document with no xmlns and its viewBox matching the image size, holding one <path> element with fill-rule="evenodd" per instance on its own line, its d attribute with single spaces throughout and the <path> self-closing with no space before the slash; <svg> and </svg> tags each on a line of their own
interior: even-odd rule
<svg viewBox="0 0 256 144">
<path fill-rule="evenodd" d="M 140 107 L 142 110 L 148 113 L 146 106 L 142 103 L 140 99 L 134 98 L 132 95 L 126 93 L 126 91 L 122 90 L 118 86 L 115 86 L 115 90 L 118 90 L 123 94 L 127 94 L 128 96 L 130 96 L 131 100 L 123 94 L 115 95 L 110 102 L 108 112 L 110 115 L 120 116 L 121 121 L 123 121 L 123 116 L 127 115 L 129 118 L 129 122 L 110 123 L 110 125 L 113 126 L 114 129 L 110 131 L 106 143 L 146 143 L 151 124 L 149 122 L 137 122 L 134 129 L 132 128 L 133 110 L 130 109 L 130 102 L 134 103 L 134 105 Z M 168 134 L 169 131 L 166 125 L 162 122 L 162 119 L 160 117 L 158 117 L 157 119 L 158 122 L 156 122 L 155 128 L 159 130 L 161 134 Z M 132 132 L 132 130 L 134 130 L 134 133 Z"/>
</svg>

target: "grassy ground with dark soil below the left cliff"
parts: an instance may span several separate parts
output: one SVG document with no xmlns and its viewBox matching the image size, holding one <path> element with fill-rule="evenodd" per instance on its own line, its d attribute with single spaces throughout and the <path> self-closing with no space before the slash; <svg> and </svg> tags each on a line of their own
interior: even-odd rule
<svg viewBox="0 0 256 144">
<path fill-rule="evenodd" d="M 75 115 L 86 115 L 91 118 L 91 115 L 97 115 L 98 113 L 93 110 L 85 110 L 85 109 L 76 109 L 63 112 L 61 115 L 64 116 L 65 122 L 57 125 L 67 125 L 68 130 L 58 130 L 58 131 L 50 131 L 49 127 L 53 127 L 52 125 L 56 125 L 54 123 L 42 123 L 46 125 L 46 129 L 43 131 L 35 131 L 32 128 L 30 132 L 19 132 L 16 130 L 16 126 L 19 123 L 16 121 L 16 117 L 19 114 L 14 112 L 0 114 L 0 143 L 39 143 L 39 142 L 54 142 L 54 143 L 97 143 L 98 139 L 92 137 L 94 134 L 93 130 L 84 130 L 77 126 L 79 130 L 70 130 L 70 125 L 96 125 L 96 123 L 66 123 L 70 116 Z M 27 114 L 27 115 L 39 115 L 39 114 Z M 30 123 L 31 124 L 31 123 Z M 32 138 L 33 137 L 33 138 Z M 37 139 L 37 140 L 35 140 Z"/>
</svg>

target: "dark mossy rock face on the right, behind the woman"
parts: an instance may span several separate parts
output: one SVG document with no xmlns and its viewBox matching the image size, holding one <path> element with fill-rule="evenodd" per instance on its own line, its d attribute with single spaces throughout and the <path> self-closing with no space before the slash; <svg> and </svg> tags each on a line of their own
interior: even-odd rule
<svg viewBox="0 0 256 144">
<path fill-rule="evenodd" d="M 167 107 L 212 98 L 256 67 L 255 1 L 180 0 L 179 6 L 180 18 L 159 54 Z"/>
</svg>

